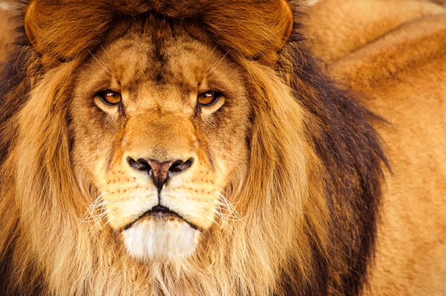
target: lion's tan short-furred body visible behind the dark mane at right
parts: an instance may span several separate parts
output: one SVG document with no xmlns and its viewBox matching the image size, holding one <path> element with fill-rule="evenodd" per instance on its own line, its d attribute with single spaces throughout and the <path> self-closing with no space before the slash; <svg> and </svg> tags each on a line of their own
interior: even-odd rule
<svg viewBox="0 0 446 296">
<path fill-rule="evenodd" d="M 383 2 L 326 1 L 308 29 L 333 77 L 389 122 L 377 126 L 392 173 L 370 295 L 445 295 L 446 10 Z"/>
</svg>

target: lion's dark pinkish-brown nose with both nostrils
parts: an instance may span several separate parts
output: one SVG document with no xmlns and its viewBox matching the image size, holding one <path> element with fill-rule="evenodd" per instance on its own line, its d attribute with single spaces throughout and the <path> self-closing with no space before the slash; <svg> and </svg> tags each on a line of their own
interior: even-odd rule
<svg viewBox="0 0 446 296">
<path fill-rule="evenodd" d="M 155 184 L 159 191 L 173 174 L 179 174 L 182 171 L 189 169 L 192 162 L 192 158 L 187 159 L 185 162 L 181 159 L 158 162 L 155 159 L 140 158 L 135 160 L 131 157 L 128 158 L 128 163 L 133 169 L 147 171 L 149 176 L 153 179 L 153 184 Z"/>
</svg>

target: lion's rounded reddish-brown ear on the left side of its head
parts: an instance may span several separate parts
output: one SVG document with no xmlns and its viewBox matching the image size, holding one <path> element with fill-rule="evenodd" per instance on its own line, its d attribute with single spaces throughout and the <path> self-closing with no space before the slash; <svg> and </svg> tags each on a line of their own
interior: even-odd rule
<svg viewBox="0 0 446 296">
<path fill-rule="evenodd" d="M 43 64 L 51 68 L 99 43 L 112 20 L 113 14 L 103 9 L 102 1 L 87 6 L 85 1 L 33 0 L 26 10 L 24 28 Z"/>
</svg>

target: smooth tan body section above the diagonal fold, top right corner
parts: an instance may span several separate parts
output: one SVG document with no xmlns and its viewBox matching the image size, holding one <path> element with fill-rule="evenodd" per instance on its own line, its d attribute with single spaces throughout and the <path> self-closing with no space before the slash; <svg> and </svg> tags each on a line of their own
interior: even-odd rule
<svg viewBox="0 0 446 296">
<path fill-rule="evenodd" d="M 442 7 L 422 1 L 366 0 L 358 4 L 323 1 L 308 13 L 308 33 L 316 43 L 313 48 L 316 56 L 333 63 L 404 23 L 444 12 Z M 346 18 L 348 22 L 343 22 Z"/>
</svg>

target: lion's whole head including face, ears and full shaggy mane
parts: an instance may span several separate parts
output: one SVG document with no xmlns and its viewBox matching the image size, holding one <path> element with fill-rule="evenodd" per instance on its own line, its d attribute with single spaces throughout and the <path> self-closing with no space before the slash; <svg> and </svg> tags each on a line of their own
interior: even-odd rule
<svg viewBox="0 0 446 296">
<path fill-rule="evenodd" d="M 25 11 L 1 103 L 4 291 L 361 289 L 383 154 L 372 115 L 304 55 L 298 6 Z"/>
</svg>

